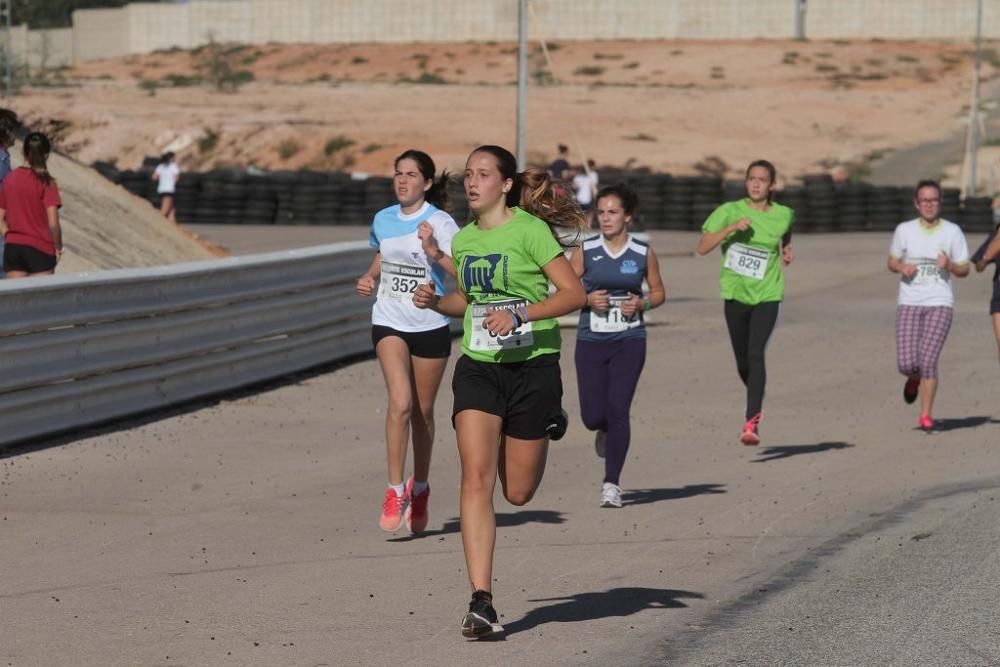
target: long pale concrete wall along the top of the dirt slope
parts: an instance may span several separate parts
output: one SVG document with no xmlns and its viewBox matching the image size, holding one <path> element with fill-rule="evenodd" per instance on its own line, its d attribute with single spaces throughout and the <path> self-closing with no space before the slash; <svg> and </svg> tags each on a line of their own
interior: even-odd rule
<svg viewBox="0 0 1000 667">
<path fill-rule="evenodd" d="M 791 39 L 798 0 L 531 0 L 530 36 L 546 39 Z M 73 12 L 75 62 L 209 37 L 260 44 L 509 41 L 517 0 L 190 0 Z M 969 39 L 975 0 L 808 0 L 813 39 Z M 1000 38 L 1000 0 L 983 34 Z"/>
</svg>

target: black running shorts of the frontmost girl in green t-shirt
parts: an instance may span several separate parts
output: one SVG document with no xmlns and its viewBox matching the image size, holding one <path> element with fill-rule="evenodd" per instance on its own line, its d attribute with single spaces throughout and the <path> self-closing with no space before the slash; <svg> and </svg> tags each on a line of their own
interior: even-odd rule
<svg viewBox="0 0 1000 667">
<path fill-rule="evenodd" d="M 528 361 L 490 363 L 462 355 L 451 382 L 455 415 L 480 410 L 503 418 L 503 432 L 521 440 L 546 437 L 546 427 L 562 410 L 559 355 Z"/>
</svg>

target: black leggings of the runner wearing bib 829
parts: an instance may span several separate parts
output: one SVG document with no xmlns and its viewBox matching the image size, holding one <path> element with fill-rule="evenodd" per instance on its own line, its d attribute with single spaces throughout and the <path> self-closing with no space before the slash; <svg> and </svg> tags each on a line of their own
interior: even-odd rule
<svg viewBox="0 0 1000 667">
<path fill-rule="evenodd" d="M 764 350 L 778 322 L 780 301 L 748 306 L 739 301 L 726 301 L 726 326 L 736 355 L 736 370 L 747 387 L 747 419 L 761 411 L 764 405 Z"/>
</svg>

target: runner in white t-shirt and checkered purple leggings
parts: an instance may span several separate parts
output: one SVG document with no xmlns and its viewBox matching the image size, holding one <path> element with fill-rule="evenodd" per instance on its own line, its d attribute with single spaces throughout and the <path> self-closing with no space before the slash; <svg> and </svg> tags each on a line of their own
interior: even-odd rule
<svg viewBox="0 0 1000 667">
<path fill-rule="evenodd" d="M 896 359 L 906 376 L 903 399 L 920 397 L 924 431 L 934 429 L 938 358 L 951 329 L 955 295 L 952 276 L 969 275 L 969 247 L 961 228 L 939 217 L 941 186 L 920 181 L 913 201 L 918 217 L 896 226 L 888 267 L 900 274 L 896 310 Z"/>
</svg>

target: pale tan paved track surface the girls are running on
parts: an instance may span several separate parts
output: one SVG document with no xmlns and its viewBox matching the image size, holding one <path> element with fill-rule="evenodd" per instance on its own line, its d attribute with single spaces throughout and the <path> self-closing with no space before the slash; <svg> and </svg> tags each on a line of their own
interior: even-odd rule
<svg viewBox="0 0 1000 667">
<path fill-rule="evenodd" d="M 651 665 L 673 664 L 685 647 L 685 664 L 706 664 L 689 652 L 697 651 L 693 638 L 713 632 L 720 614 L 730 627 L 751 622 L 754 607 L 741 601 L 767 598 L 772 585 L 777 591 L 778 575 L 791 572 L 782 585 L 809 590 L 860 576 L 837 568 L 870 563 L 868 552 L 823 560 L 829 545 L 855 540 L 868 548 L 877 537 L 866 532 L 873 517 L 891 518 L 894 508 L 935 489 L 997 484 L 997 349 L 984 276 L 957 286 L 936 412 L 942 431 L 925 435 L 899 396 L 888 235 L 799 238 L 768 350 L 765 440 L 752 449 L 736 441 L 743 392 L 722 322 L 717 259 L 681 256 L 696 242 L 691 234 L 653 232 L 652 239 L 667 256 L 669 300 L 654 312 L 659 326 L 650 330 L 634 405 L 623 476 L 628 504 L 597 506 L 602 466 L 579 422 L 574 336 L 566 332 L 571 429 L 552 445 L 531 504 L 497 500 L 495 591 L 505 642 L 466 643 L 458 632 L 468 591 L 447 382 L 429 531 L 410 539 L 377 528 L 385 390 L 376 363 L 366 360 L 156 421 L 7 452 L 0 461 L 0 660 Z M 943 518 L 939 505 L 921 511 L 929 522 Z M 899 532 L 886 525 L 901 546 L 918 544 L 902 532 L 912 522 Z M 979 570 L 962 578 L 944 554 L 938 567 L 921 571 L 960 578 L 956 591 L 983 584 L 974 578 Z M 789 570 L 803 558 L 820 565 Z M 871 592 L 884 581 L 863 583 Z M 919 591 L 924 580 L 900 585 Z M 851 599 L 834 601 L 829 591 L 838 613 L 850 614 Z M 950 595 L 949 603 L 965 599 Z M 967 599 L 980 604 L 982 596 Z M 850 626 L 854 634 L 825 640 L 849 636 L 859 648 L 877 648 L 879 631 L 895 621 L 863 618 L 870 621 Z M 952 618 L 978 623 L 964 632 L 980 634 L 997 622 L 995 610 L 961 606 Z M 822 616 L 803 622 L 822 631 Z M 932 643 L 939 652 L 927 655 L 940 656 L 954 644 L 935 633 L 950 627 L 921 626 L 904 639 L 907 647 Z M 706 646 L 746 664 L 775 664 L 733 657 L 721 643 Z M 997 658 L 945 657 L 953 659 L 936 664 Z"/>
</svg>

